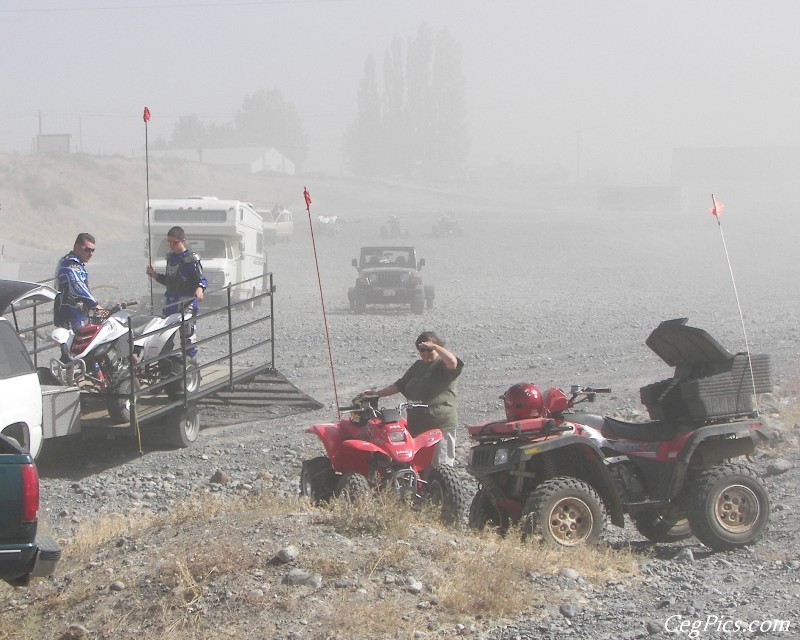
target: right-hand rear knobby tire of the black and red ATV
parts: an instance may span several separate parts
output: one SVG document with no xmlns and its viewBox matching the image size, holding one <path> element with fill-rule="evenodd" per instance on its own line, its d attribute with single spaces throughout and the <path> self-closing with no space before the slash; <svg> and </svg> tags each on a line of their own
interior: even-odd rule
<svg viewBox="0 0 800 640">
<path fill-rule="evenodd" d="M 715 551 L 756 542 L 769 525 L 770 503 L 764 483 L 744 464 L 711 467 L 695 482 L 689 511 L 692 532 Z"/>
</svg>

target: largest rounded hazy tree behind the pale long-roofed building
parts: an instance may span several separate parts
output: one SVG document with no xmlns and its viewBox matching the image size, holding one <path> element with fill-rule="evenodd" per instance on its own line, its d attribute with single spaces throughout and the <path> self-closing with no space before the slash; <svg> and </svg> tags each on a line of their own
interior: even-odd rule
<svg viewBox="0 0 800 640">
<path fill-rule="evenodd" d="M 280 91 L 262 89 L 247 96 L 234 123 L 239 144 L 275 147 L 297 166 L 308 157 L 308 140 L 300 116 Z"/>
</svg>

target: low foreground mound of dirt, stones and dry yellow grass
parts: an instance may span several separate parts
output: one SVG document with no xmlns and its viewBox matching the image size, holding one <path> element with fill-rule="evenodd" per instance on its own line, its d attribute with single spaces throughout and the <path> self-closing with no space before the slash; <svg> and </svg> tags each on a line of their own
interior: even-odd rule
<svg viewBox="0 0 800 640">
<path fill-rule="evenodd" d="M 65 543 L 54 583 L 0 591 L 0 640 L 68 638 L 73 623 L 96 637 L 255 640 L 300 620 L 309 638 L 405 638 L 535 615 L 554 604 L 542 579 L 564 566 L 598 584 L 636 573 L 628 552 L 556 550 L 517 534 L 446 528 L 389 496 L 321 507 L 270 495 L 203 497 L 170 514 L 104 516 Z M 297 560 L 276 562 L 290 544 Z M 322 586 L 285 584 L 292 567 Z M 412 592 L 412 581 L 421 590 Z"/>
</svg>

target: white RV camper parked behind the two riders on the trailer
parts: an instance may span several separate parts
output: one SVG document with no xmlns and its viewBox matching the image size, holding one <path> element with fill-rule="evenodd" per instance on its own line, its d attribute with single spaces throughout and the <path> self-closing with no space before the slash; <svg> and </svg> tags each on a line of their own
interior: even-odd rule
<svg viewBox="0 0 800 640">
<path fill-rule="evenodd" d="M 183 228 L 187 246 L 200 256 L 209 299 L 227 301 L 229 285 L 232 302 L 262 293 L 263 278 L 251 280 L 266 273 L 263 220 L 252 205 L 215 197 L 150 200 L 144 232 L 150 232 L 159 273 L 166 268 L 167 231 L 174 226 Z"/>
</svg>

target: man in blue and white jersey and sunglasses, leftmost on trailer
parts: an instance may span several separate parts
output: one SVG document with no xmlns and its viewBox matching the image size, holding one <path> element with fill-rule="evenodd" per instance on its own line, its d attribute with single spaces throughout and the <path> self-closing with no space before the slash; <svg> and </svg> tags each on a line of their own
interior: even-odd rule
<svg viewBox="0 0 800 640">
<path fill-rule="evenodd" d="M 60 295 L 53 303 L 53 324 L 73 331 L 89 322 L 89 312 L 104 312 L 89 288 L 89 273 L 86 263 L 92 259 L 95 250 L 94 236 L 79 233 L 75 245 L 67 255 L 58 261 L 55 288 Z"/>
</svg>

